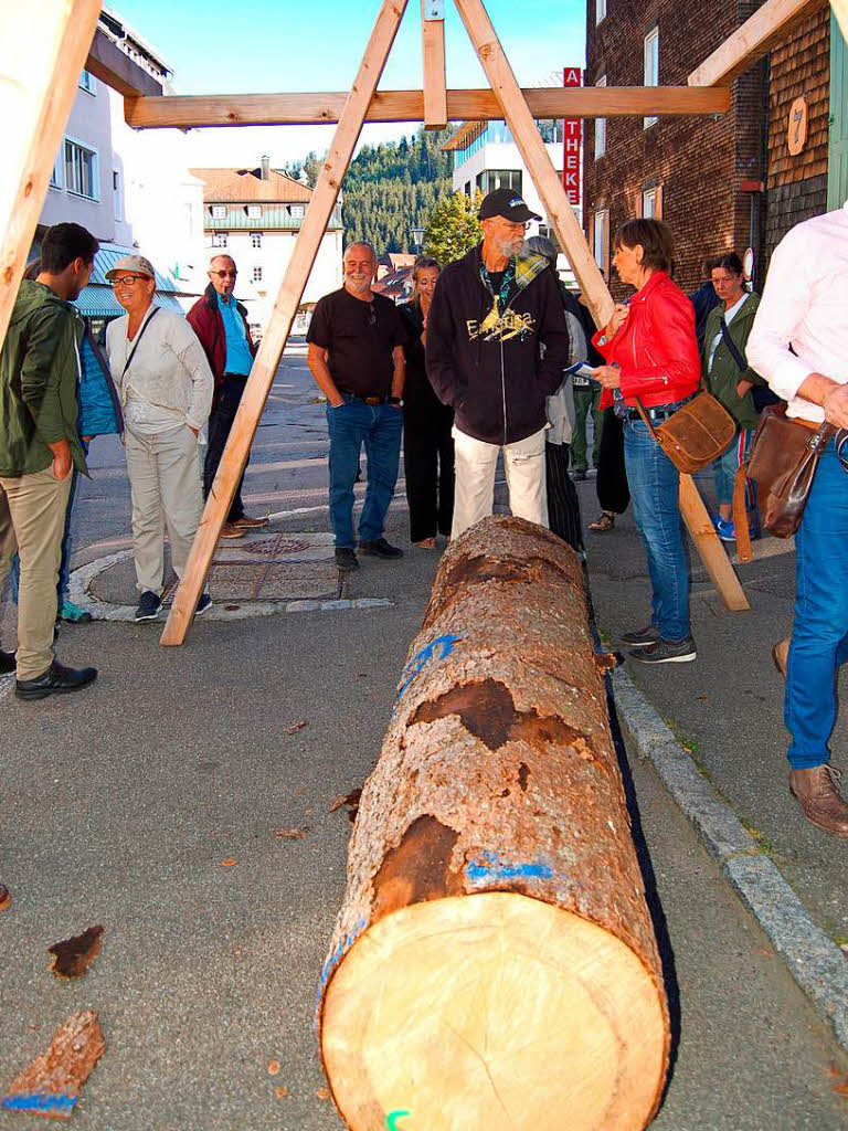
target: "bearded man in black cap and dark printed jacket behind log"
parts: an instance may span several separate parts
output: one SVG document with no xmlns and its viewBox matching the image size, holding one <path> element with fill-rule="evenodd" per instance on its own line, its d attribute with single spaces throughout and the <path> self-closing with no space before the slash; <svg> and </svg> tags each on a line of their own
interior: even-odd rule
<svg viewBox="0 0 848 1131">
<path fill-rule="evenodd" d="M 521 256 L 527 221 L 540 217 L 495 189 L 479 218 L 483 243 L 442 271 L 427 316 L 427 375 L 455 411 L 453 538 L 492 513 L 501 448 L 512 513 L 547 526 L 545 397 L 569 355 L 547 260 Z"/>
</svg>

